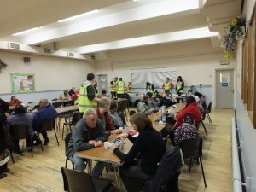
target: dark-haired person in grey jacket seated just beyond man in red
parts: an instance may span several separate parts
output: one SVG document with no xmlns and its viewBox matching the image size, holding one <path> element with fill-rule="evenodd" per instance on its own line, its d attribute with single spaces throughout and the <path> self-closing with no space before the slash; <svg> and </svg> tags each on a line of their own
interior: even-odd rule
<svg viewBox="0 0 256 192">
<path fill-rule="evenodd" d="M 113 125 L 115 126 L 115 128 L 126 127 L 127 125 L 126 125 L 124 114 L 117 113 L 117 110 L 118 110 L 117 101 L 112 100 L 109 108 L 109 116 L 113 121 Z"/>
</svg>

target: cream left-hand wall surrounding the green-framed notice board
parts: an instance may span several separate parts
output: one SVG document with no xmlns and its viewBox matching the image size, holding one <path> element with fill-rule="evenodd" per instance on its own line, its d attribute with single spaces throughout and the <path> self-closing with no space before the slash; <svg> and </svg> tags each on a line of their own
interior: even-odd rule
<svg viewBox="0 0 256 192">
<path fill-rule="evenodd" d="M 24 63 L 28 55 L 0 51 L 0 59 L 9 66 L 0 73 L 0 93 L 10 93 L 10 73 L 35 73 L 36 90 L 63 90 L 79 87 L 87 73 L 95 72 L 95 63 L 83 60 L 52 56 L 31 56 L 31 62 Z"/>
</svg>

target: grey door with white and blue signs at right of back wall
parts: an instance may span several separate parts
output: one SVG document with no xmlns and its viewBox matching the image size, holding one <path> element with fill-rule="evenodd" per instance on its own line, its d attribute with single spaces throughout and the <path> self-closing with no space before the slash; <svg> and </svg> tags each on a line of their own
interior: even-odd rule
<svg viewBox="0 0 256 192">
<path fill-rule="evenodd" d="M 234 69 L 216 71 L 216 108 L 234 108 Z"/>
</svg>

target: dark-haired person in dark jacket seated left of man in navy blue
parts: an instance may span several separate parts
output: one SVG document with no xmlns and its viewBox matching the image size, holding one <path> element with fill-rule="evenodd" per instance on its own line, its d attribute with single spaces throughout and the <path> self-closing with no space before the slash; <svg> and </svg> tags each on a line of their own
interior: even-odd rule
<svg viewBox="0 0 256 192">
<path fill-rule="evenodd" d="M 16 106 L 14 112 L 11 113 L 11 115 L 7 119 L 7 123 L 9 126 L 11 126 L 11 125 L 27 125 L 28 134 L 29 134 L 29 137 L 26 138 L 26 147 L 27 148 L 31 147 L 30 139 L 32 137 L 34 137 L 34 134 L 35 134 L 33 131 L 33 128 L 32 128 L 32 120 L 33 120 L 32 114 L 26 113 L 26 108 L 22 105 Z M 21 151 L 20 151 L 20 147 L 19 147 L 19 140 L 14 141 L 14 143 L 15 143 L 15 147 L 16 147 L 16 152 L 20 154 Z"/>
</svg>

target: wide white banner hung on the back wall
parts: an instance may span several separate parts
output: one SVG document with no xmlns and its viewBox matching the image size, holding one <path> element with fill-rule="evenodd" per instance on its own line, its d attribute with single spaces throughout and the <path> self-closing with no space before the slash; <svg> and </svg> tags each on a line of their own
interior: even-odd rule
<svg viewBox="0 0 256 192">
<path fill-rule="evenodd" d="M 161 88 L 166 78 L 176 82 L 176 67 L 131 69 L 131 84 L 134 89 L 145 88 L 147 82 L 154 84 L 155 88 Z"/>
</svg>

